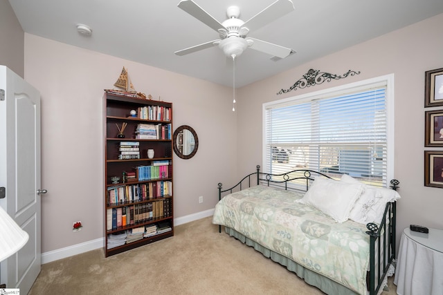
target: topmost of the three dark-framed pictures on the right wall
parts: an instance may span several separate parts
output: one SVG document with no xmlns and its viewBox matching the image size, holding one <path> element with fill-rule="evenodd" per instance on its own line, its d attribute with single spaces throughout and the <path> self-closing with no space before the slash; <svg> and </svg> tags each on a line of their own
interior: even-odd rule
<svg viewBox="0 0 443 295">
<path fill-rule="evenodd" d="M 443 106 L 443 68 L 424 72 L 424 106 Z"/>
</svg>

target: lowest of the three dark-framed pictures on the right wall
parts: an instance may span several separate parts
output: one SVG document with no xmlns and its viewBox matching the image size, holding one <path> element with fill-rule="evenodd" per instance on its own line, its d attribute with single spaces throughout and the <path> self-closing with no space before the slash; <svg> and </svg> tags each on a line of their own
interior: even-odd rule
<svg viewBox="0 0 443 295">
<path fill-rule="evenodd" d="M 443 151 L 424 151 L 424 185 L 443 188 Z"/>
</svg>

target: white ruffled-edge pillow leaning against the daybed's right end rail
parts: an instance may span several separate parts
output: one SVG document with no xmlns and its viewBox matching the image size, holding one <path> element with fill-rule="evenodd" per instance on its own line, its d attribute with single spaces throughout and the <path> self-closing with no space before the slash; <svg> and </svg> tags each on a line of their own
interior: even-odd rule
<svg viewBox="0 0 443 295">
<path fill-rule="evenodd" d="M 361 184 L 359 180 L 346 174 L 342 175 L 340 182 Z M 399 198 L 399 193 L 393 189 L 373 187 L 372 185 L 363 184 L 363 193 L 359 200 L 356 200 L 349 218 L 355 222 L 363 223 L 363 225 L 366 225 L 369 222 L 380 224 L 386 208 L 386 203 L 395 202 L 395 200 L 398 200 Z"/>
</svg>

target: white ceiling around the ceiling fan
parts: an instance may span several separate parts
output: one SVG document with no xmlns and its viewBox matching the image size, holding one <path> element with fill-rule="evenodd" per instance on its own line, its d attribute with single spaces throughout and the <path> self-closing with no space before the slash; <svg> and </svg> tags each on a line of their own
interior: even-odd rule
<svg viewBox="0 0 443 295">
<path fill-rule="evenodd" d="M 274 1 L 195 0 L 220 22 L 226 19 L 228 6 L 239 6 L 240 19 L 246 21 Z M 29 34 L 233 86 L 232 61 L 219 48 L 174 55 L 219 39 L 215 30 L 178 8 L 179 0 L 9 2 Z M 272 61 L 269 55 L 246 49 L 235 61 L 236 87 L 443 13 L 442 0 L 293 0 L 293 4 L 293 12 L 248 37 L 292 48 L 296 54 Z M 77 32 L 78 23 L 92 28 L 91 37 Z"/>
</svg>

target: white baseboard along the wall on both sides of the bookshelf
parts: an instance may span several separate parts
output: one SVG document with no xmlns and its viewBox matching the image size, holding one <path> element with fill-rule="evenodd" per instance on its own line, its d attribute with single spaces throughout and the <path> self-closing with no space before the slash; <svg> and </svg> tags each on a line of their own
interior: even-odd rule
<svg viewBox="0 0 443 295">
<path fill-rule="evenodd" d="M 177 225 L 184 225 L 185 223 L 199 220 L 201 218 L 205 218 L 208 216 L 213 216 L 214 209 L 209 209 L 206 211 L 201 211 L 198 213 L 193 213 L 187 216 L 174 218 L 174 226 L 177 227 Z M 97 238 L 96 240 L 89 240 L 88 242 L 82 242 L 77 245 L 72 245 L 69 247 L 64 247 L 61 249 L 48 251 L 45 253 L 42 253 L 42 265 L 45 263 L 51 263 L 55 260 L 59 260 L 62 258 L 67 258 L 70 256 L 74 256 L 77 254 L 82 254 L 87 251 L 92 251 L 101 247 L 104 247 L 105 245 L 105 238 Z"/>
</svg>

